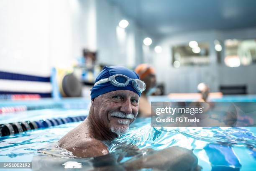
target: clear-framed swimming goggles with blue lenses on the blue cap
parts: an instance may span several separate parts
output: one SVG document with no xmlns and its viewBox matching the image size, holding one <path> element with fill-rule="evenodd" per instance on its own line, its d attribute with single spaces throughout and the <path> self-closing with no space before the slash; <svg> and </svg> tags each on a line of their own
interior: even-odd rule
<svg viewBox="0 0 256 171">
<path fill-rule="evenodd" d="M 95 82 L 95 86 L 98 84 L 110 82 L 116 87 L 125 87 L 129 84 L 129 82 L 132 80 L 133 82 L 133 88 L 136 89 L 137 92 L 143 92 L 146 89 L 146 84 L 141 81 L 140 79 L 132 79 L 122 74 L 115 74 L 110 76 L 109 78 L 101 79 L 97 82 Z"/>
</svg>

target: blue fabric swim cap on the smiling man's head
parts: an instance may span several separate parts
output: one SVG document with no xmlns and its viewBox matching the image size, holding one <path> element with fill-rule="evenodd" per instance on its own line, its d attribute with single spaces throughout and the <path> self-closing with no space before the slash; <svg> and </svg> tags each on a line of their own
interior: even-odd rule
<svg viewBox="0 0 256 171">
<path fill-rule="evenodd" d="M 109 67 L 104 66 L 103 70 L 100 72 L 95 82 L 104 78 L 109 78 L 110 76 L 115 74 L 123 74 L 132 79 L 140 79 L 140 77 L 138 76 L 138 74 L 136 74 L 136 72 L 128 68 L 125 68 L 123 66 L 109 66 Z M 105 82 L 92 87 L 91 99 L 94 99 L 95 97 L 98 97 L 101 94 L 105 94 L 105 93 L 116 91 L 116 90 L 131 90 L 137 93 L 139 96 L 141 96 L 141 93 L 137 92 L 136 89 L 133 88 L 133 84 L 131 81 L 125 87 L 116 87 L 110 82 Z"/>
</svg>

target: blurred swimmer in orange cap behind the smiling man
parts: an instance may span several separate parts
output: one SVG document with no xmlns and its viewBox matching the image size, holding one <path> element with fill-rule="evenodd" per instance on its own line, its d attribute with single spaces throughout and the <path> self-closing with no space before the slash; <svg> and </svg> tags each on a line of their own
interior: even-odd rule
<svg viewBox="0 0 256 171">
<path fill-rule="evenodd" d="M 148 96 L 156 91 L 156 74 L 152 66 L 148 64 L 140 64 L 136 67 L 135 72 L 139 75 L 140 79 L 145 82 L 146 89 L 141 94 L 139 104 L 139 117 L 151 116 L 151 105 L 148 101 Z"/>
</svg>

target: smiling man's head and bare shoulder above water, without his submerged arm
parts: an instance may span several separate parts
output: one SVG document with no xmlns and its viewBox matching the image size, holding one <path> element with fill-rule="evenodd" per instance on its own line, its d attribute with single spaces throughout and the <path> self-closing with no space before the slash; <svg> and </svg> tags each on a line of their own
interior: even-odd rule
<svg viewBox="0 0 256 171">
<path fill-rule="evenodd" d="M 123 66 L 105 66 L 91 91 L 88 117 L 59 140 L 59 146 L 79 157 L 108 154 L 103 140 L 124 134 L 138 114 L 138 101 L 145 89 L 138 74 Z"/>
</svg>

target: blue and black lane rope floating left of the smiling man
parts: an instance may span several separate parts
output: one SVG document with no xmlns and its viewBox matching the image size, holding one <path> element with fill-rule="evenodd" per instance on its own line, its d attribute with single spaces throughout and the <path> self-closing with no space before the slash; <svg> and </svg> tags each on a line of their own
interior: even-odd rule
<svg viewBox="0 0 256 171">
<path fill-rule="evenodd" d="M 74 123 L 83 121 L 87 116 L 74 116 L 65 118 L 53 118 L 38 121 L 25 121 L 25 122 L 15 122 L 8 124 L 0 124 L 0 137 L 14 135 L 18 133 L 23 133 L 28 130 L 36 130 L 39 128 L 49 128 L 52 126 L 62 125 L 65 123 Z"/>
</svg>

